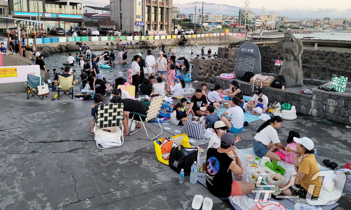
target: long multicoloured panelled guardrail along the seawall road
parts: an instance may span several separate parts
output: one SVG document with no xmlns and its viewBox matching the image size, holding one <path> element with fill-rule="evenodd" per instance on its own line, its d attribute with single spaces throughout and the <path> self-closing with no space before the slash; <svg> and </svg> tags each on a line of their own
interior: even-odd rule
<svg viewBox="0 0 351 210">
<path fill-rule="evenodd" d="M 208 33 L 208 34 L 188 34 L 185 35 L 185 38 L 198 38 L 198 37 L 208 37 L 208 36 L 245 36 L 241 33 Z M 109 42 L 116 41 L 119 39 L 122 41 L 132 41 L 132 40 L 159 40 L 159 39 L 180 39 L 180 35 L 158 35 L 158 36 L 76 36 L 76 37 L 48 37 L 48 38 L 36 38 L 35 42 L 38 44 L 45 43 L 59 43 L 59 42 L 85 42 L 85 41 L 101 41 Z M 7 40 L 2 41 L 4 47 L 7 48 Z M 18 40 L 15 40 L 15 43 L 18 43 Z M 34 45 L 34 39 L 28 39 L 28 43 Z M 24 40 L 24 44 L 27 45 L 27 39 Z"/>
</svg>

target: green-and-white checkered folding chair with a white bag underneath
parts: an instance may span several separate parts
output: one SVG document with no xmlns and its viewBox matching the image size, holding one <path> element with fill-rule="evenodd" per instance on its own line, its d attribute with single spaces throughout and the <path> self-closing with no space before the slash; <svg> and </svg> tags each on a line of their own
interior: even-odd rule
<svg viewBox="0 0 351 210">
<path fill-rule="evenodd" d="M 110 104 L 100 104 L 98 106 L 98 110 L 96 115 L 93 116 L 95 130 L 94 130 L 94 139 L 96 141 L 96 145 L 99 149 L 107 149 L 113 147 L 120 147 L 124 142 L 123 129 L 122 129 L 122 120 L 123 116 L 123 104 L 122 103 L 110 103 Z M 121 144 L 117 146 L 111 147 L 99 147 L 98 143 L 98 129 L 107 129 L 119 127 L 121 129 L 122 140 Z M 104 138 L 104 143 L 113 143 L 113 139 L 109 142 L 108 139 Z M 101 144 L 100 144 L 101 145 Z"/>
</svg>

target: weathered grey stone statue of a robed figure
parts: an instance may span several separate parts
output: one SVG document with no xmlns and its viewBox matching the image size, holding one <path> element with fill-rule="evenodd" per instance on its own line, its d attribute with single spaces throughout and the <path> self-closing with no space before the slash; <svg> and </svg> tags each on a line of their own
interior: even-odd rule
<svg viewBox="0 0 351 210">
<path fill-rule="evenodd" d="M 301 55 L 304 46 L 300 39 L 296 39 L 292 31 L 287 31 L 284 38 L 277 42 L 278 52 L 284 58 L 279 75 L 285 79 L 285 87 L 302 87 L 303 72 Z"/>
</svg>

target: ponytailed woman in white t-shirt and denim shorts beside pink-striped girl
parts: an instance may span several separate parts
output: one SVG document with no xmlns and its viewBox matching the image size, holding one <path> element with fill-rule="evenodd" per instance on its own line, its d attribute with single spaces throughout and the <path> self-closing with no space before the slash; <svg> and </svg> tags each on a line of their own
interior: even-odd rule
<svg viewBox="0 0 351 210">
<path fill-rule="evenodd" d="M 259 157 L 269 157 L 271 161 L 280 161 L 279 155 L 275 154 L 277 148 L 285 149 L 280 143 L 277 129 L 282 126 L 283 120 L 279 116 L 274 116 L 264 122 L 256 131 L 253 140 L 253 151 Z"/>
</svg>

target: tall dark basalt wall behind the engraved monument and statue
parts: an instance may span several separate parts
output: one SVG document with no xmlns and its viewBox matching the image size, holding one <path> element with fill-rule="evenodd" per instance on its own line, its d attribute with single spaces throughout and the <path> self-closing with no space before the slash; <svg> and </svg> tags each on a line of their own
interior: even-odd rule
<svg viewBox="0 0 351 210">
<path fill-rule="evenodd" d="M 277 47 L 258 47 L 261 54 L 262 73 L 278 74 L 279 67 L 274 66 L 274 61 L 283 60 L 283 58 L 277 52 Z M 217 59 L 194 61 L 192 77 L 199 81 L 210 81 L 209 76 L 233 72 L 237 54 L 238 48 L 218 48 Z M 208 71 L 202 73 L 202 69 L 206 67 Z M 351 78 L 351 53 L 305 49 L 302 57 L 302 69 L 305 84 L 324 84 L 331 80 L 332 74 Z"/>
</svg>

